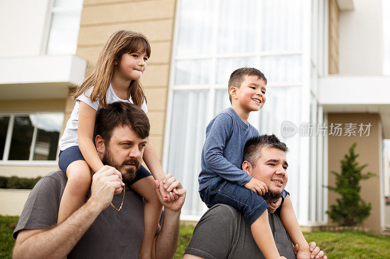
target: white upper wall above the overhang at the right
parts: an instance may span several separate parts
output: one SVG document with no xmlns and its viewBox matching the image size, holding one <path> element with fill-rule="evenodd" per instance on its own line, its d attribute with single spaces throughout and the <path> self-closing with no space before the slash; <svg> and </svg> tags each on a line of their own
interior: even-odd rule
<svg viewBox="0 0 390 259">
<path fill-rule="evenodd" d="M 339 73 L 383 74 L 381 0 L 355 0 L 340 12 Z"/>
</svg>

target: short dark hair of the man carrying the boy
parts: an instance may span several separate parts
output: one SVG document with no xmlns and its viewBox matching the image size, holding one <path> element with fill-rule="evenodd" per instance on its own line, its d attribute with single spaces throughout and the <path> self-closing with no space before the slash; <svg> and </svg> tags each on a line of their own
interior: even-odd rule
<svg viewBox="0 0 390 259">
<path fill-rule="evenodd" d="M 264 147 L 277 148 L 284 153 L 289 151 L 286 143 L 280 141 L 274 134 L 264 134 L 248 139 L 244 146 L 243 161 L 248 161 L 252 166 L 255 166 L 256 161 L 261 157 L 261 148 Z"/>
</svg>

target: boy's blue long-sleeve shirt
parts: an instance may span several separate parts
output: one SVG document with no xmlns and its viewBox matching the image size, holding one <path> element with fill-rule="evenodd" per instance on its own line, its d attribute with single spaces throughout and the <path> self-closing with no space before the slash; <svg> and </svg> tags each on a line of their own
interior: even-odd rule
<svg viewBox="0 0 390 259">
<path fill-rule="evenodd" d="M 252 176 L 241 170 L 244 145 L 257 136 L 258 131 L 242 121 L 231 107 L 210 121 L 202 149 L 199 190 L 208 187 L 217 176 L 240 186 L 248 183 Z"/>
</svg>

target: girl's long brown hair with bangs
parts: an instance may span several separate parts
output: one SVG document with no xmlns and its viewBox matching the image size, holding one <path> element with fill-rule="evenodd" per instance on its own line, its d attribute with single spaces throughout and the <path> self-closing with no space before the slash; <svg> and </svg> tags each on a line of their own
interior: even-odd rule
<svg viewBox="0 0 390 259">
<path fill-rule="evenodd" d="M 150 44 L 145 35 L 130 30 L 119 30 L 113 33 L 104 44 L 101 50 L 98 62 L 93 72 L 77 87 L 72 94 L 76 99 L 89 88 L 94 87 L 89 97 L 91 102 L 99 101 L 102 108 L 107 108 L 106 93 L 110 86 L 111 78 L 114 71 L 114 62 L 120 62 L 120 58 L 125 53 L 146 52 L 150 57 Z M 133 103 L 141 107 L 145 93 L 139 80 L 132 80 L 129 86 L 129 98 Z"/>
</svg>

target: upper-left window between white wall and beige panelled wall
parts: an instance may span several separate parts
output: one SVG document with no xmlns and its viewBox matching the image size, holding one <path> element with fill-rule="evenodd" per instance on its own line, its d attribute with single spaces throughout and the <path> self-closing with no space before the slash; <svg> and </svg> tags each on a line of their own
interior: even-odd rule
<svg viewBox="0 0 390 259">
<path fill-rule="evenodd" d="M 75 54 L 83 0 L 54 0 L 46 52 Z"/>
</svg>

